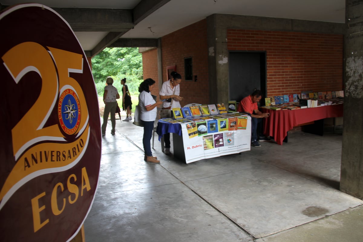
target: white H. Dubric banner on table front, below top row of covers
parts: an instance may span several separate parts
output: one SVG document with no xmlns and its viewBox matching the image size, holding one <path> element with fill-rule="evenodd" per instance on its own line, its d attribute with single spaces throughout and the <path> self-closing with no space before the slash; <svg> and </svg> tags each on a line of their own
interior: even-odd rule
<svg viewBox="0 0 363 242">
<path fill-rule="evenodd" d="M 187 124 L 180 124 L 183 134 L 185 162 L 249 151 L 251 149 L 251 118 L 247 116 L 246 129 L 206 133 L 189 138 Z"/>
</svg>

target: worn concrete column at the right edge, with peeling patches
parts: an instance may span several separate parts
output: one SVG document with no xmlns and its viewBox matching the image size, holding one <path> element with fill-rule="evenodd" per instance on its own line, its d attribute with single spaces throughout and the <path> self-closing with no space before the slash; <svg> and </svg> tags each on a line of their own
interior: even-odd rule
<svg viewBox="0 0 363 242">
<path fill-rule="evenodd" d="M 340 190 L 363 199 L 363 2 L 346 0 Z"/>
</svg>

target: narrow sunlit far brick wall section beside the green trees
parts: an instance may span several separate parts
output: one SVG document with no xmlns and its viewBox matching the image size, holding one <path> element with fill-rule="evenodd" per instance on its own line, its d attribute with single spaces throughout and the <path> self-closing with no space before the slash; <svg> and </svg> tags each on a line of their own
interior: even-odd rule
<svg viewBox="0 0 363 242">
<path fill-rule="evenodd" d="M 154 89 L 151 91 L 151 94 L 158 96 L 159 99 L 157 49 L 148 50 L 147 52 L 142 53 L 142 69 L 144 80 L 151 78 L 156 82 Z"/>
</svg>

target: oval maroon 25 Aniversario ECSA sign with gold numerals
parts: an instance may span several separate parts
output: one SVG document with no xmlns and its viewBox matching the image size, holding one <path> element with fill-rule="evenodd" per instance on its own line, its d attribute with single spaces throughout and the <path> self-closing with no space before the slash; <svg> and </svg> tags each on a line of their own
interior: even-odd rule
<svg viewBox="0 0 363 242">
<path fill-rule="evenodd" d="M 98 99 L 68 23 L 40 4 L 0 13 L 1 241 L 69 241 L 97 189 Z"/>
</svg>

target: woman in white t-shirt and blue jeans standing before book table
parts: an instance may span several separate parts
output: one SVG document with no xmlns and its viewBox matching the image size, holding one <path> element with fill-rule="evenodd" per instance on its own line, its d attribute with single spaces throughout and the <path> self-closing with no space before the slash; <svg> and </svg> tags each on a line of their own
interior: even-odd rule
<svg viewBox="0 0 363 242">
<path fill-rule="evenodd" d="M 152 163 L 159 163 L 160 161 L 152 156 L 150 140 L 152 137 L 152 130 L 154 128 L 154 122 L 156 119 L 156 107 L 163 102 L 152 98 L 150 91 L 154 89 L 155 81 L 151 78 L 147 78 L 139 86 L 139 107 L 140 107 L 140 119 L 144 125 L 144 135 L 142 138 L 142 144 L 144 146 L 145 157 L 144 160 Z"/>
</svg>

